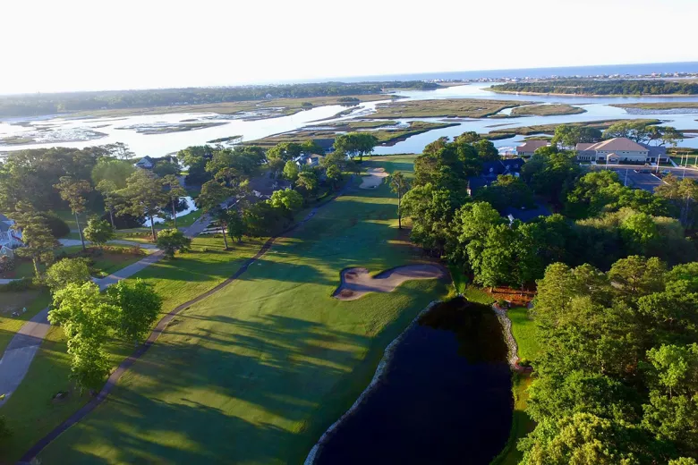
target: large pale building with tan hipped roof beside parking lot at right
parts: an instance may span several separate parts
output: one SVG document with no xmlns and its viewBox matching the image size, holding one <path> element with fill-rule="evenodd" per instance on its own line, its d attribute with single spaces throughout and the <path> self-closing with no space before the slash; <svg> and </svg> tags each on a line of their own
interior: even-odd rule
<svg viewBox="0 0 698 465">
<path fill-rule="evenodd" d="M 667 148 L 652 147 L 625 137 L 580 143 L 575 146 L 577 160 L 597 163 L 634 163 L 644 165 L 668 161 Z"/>
</svg>

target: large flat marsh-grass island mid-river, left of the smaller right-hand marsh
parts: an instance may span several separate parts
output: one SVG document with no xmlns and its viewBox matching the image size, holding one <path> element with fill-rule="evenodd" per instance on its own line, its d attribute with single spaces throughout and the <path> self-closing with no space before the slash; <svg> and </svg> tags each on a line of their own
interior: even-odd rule
<svg viewBox="0 0 698 465">
<path fill-rule="evenodd" d="M 445 98 L 441 100 L 410 100 L 379 104 L 371 118 L 468 117 L 484 118 L 505 108 L 530 104 L 511 100 L 477 98 Z"/>
</svg>

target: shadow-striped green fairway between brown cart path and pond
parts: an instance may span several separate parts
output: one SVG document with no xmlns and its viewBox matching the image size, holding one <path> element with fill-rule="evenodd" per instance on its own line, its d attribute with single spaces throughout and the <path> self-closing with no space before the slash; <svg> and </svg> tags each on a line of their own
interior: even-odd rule
<svg viewBox="0 0 698 465">
<path fill-rule="evenodd" d="M 339 301 L 340 271 L 413 261 L 385 184 L 329 203 L 239 281 L 176 317 L 41 460 L 301 463 L 368 384 L 387 343 L 446 292 L 412 281 Z"/>
</svg>

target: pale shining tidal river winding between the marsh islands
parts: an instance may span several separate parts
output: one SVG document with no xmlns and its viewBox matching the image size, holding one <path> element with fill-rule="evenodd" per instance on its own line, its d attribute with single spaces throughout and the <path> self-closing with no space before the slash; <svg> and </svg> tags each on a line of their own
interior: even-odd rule
<svg viewBox="0 0 698 465">
<path fill-rule="evenodd" d="M 625 109 L 609 106 L 616 103 L 698 101 L 698 97 L 553 97 L 518 96 L 496 94 L 487 90 L 490 84 L 472 84 L 427 91 L 404 91 L 397 95 L 408 99 L 439 98 L 482 98 L 514 101 L 537 101 L 543 103 L 566 103 L 581 106 L 583 114 L 561 116 L 525 116 L 507 119 L 457 119 L 457 126 L 424 132 L 405 139 L 390 147 L 378 147 L 379 155 L 396 153 L 421 153 L 430 142 L 439 137 L 454 137 L 464 131 L 489 132 L 494 128 L 513 128 L 535 124 L 573 123 L 600 121 L 616 118 L 657 118 L 679 130 L 698 129 L 698 112 L 691 110 L 669 110 L 652 114 L 628 114 Z M 31 143 L 3 145 L 0 152 L 23 148 L 73 147 L 85 148 L 114 142 L 127 144 L 138 156 L 164 156 L 192 145 L 202 145 L 209 140 L 242 136 L 244 140 L 267 137 L 280 132 L 294 131 L 304 126 L 318 125 L 319 120 L 340 121 L 356 117 L 369 117 L 379 102 L 362 103 L 354 107 L 352 114 L 332 119 L 345 108 L 342 106 L 319 106 L 291 116 L 245 121 L 238 116 L 212 113 L 150 114 L 104 118 L 73 119 L 69 116 L 39 118 L 14 118 L 0 121 L 0 139 L 13 137 L 33 140 Z M 329 118 L 329 120 L 328 120 Z M 444 118 L 419 118 L 415 121 L 448 121 Z M 410 119 L 399 120 L 402 123 Z M 158 128 L 173 124 L 221 123 L 220 125 L 195 131 L 161 132 Z M 153 130 L 156 133 L 144 133 Z M 150 131 L 153 132 L 153 131 Z M 498 148 L 513 148 L 523 137 L 495 141 Z M 687 138 L 684 147 L 698 148 L 698 138 Z"/>
</svg>

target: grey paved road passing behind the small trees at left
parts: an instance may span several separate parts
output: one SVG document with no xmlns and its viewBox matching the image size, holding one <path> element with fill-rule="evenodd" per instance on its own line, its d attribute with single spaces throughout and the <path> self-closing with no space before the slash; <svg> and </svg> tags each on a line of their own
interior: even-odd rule
<svg viewBox="0 0 698 465">
<path fill-rule="evenodd" d="M 120 269 L 113 275 L 108 275 L 102 279 L 93 279 L 93 281 L 99 285 L 99 289 L 104 290 L 122 279 L 135 275 L 161 258 L 163 258 L 163 252 L 162 250 L 157 250 L 148 257 Z M 37 354 L 38 348 L 41 342 L 44 341 L 50 327 L 51 325 L 48 323 L 48 308 L 46 308 L 22 325 L 20 330 L 14 334 L 12 341 L 7 344 L 3 358 L 0 359 L 0 394 L 4 393 L 4 399 L 0 400 L 0 407 L 2 407 L 4 402 L 7 402 L 21 384 L 24 376 L 27 375 L 31 361 Z"/>
</svg>

